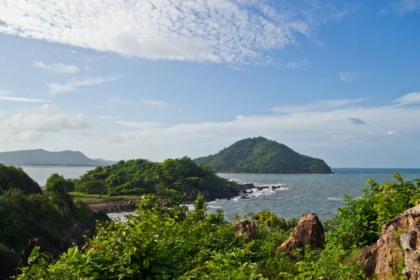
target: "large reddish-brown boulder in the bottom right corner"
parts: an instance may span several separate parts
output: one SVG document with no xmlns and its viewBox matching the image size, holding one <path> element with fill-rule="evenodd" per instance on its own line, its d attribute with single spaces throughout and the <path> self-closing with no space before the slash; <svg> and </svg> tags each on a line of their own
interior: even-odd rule
<svg viewBox="0 0 420 280">
<path fill-rule="evenodd" d="M 388 221 L 383 227 L 381 236 L 377 241 L 377 245 L 372 250 L 372 256 L 367 260 L 365 273 L 367 277 L 372 279 L 376 276 L 378 280 L 388 279 L 398 273 L 398 261 L 404 256 L 405 274 L 412 275 L 408 279 L 420 279 L 414 276 L 413 270 L 419 267 L 419 225 L 420 225 L 420 205 L 408 209 L 402 214 Z M 401 237 L 395 237 L 395 233 L 399 230 L 405 230 Z M 398 240 L 404 252 L 398 246 Z M 417 255 L 417 259 L 416 258 Z M 416 268 L 417 267 L 417 268 Z"/>
</svg>

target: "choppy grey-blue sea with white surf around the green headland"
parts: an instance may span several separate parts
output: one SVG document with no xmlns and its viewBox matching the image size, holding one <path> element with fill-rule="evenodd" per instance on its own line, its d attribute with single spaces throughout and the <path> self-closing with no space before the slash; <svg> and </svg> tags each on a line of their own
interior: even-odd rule
<svg viewBox="0 0 420 280">
<path fill-rule="evenodd" d="M 45 186 L 48 176 L 53 173 L 63 175 L 66 179 L 78 178 L 92 167 L 25 167 L 22 169 Z M 420 178 L 420 169 L 366 169 L 366 168 L 333 168 L 335 174 L 227 174 L 223 178 L 238 183 L 255 183 L 255 186 L 269 186 L 263 190 L 253 190 L 248 199 L 235 197 L 232 200 L 209 202 L 208 211 L 214 213 L 222 209 L 227 221 L 232 221 L 235 214 L 241 218 L 265 209 L 283 218 L 300 218 L 314 212 L 321 221 L 333 218 L 337 209 L 342 207 L 344 194 L 359 197 L 365 183 L 374 179 L 377 183 L 395 181 L 394 172 L 398 171 L 405 181 Z M 281 188 L 272 189 L 272 186 Z M 113 214 L 113 218 L 125 214 Z"/>
</svg>

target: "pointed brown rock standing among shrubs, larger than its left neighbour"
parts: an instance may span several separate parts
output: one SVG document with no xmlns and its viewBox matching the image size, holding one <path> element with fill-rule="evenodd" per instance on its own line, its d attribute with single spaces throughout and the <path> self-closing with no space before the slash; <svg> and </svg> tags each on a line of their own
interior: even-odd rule
<svg viewBox="0 0 420 280">
<path fill-rule="evenodd" d="M 281 244 L 274 253 L 286 252 L 293 256 L 295 248 L 311 245 L 312 248 L 323 248 L 325 244 L 324 230 L 315 213 L 307 214 L 299 220 L 292 235 Z"/>
</svg>

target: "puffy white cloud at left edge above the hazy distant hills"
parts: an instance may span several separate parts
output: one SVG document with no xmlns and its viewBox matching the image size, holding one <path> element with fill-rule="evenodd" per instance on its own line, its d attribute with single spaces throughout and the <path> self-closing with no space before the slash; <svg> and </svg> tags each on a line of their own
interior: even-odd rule
<svg viewBox="0 0 420 280">
<path fill-rule="evenodd" d="M 0 141 L 39 141 L 44 134 L 83 130 L 92 125 L 83 113 L 67 114 L 57 106 L 45 104 L 36 109 L 20 109 L 0 123 Z"/>
</svg>

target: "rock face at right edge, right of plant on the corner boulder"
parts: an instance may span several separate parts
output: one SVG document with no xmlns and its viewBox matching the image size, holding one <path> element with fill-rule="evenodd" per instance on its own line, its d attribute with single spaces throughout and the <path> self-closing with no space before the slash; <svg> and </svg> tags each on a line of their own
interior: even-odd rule
<svg viewBox="0 0 420 280">
<path fill-rule="evenodd" d="M 410 227 L 400 237 L 404 252 L 405 268 L 402 275 L 407 279 L 420 279 L 420 226 Z"/>
</svg>

